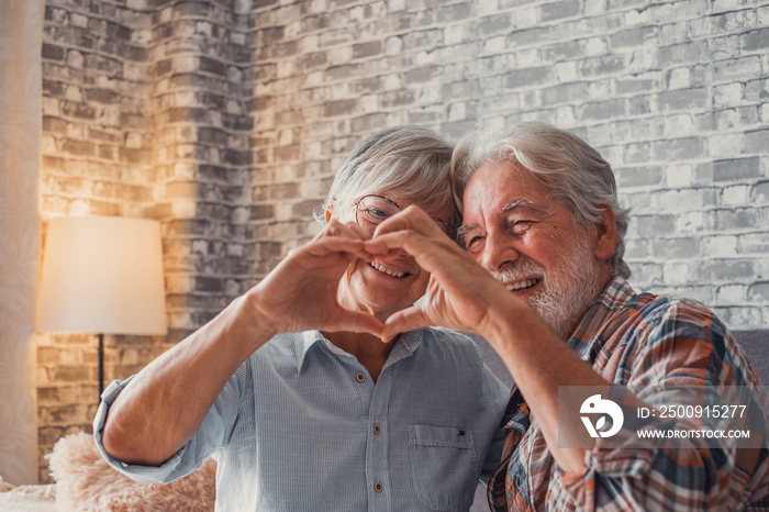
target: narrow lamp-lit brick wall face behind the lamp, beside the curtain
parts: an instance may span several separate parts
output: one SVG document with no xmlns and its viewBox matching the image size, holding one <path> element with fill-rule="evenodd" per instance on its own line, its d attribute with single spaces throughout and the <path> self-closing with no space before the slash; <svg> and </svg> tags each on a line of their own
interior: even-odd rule
<svg viewBox="0 0 769 512">
<path fill-rule="evenodd" d="M 144 216 L 155 200 L 152 126 L 144 111 L 151 26 L 146 13 L 108 2 L 46 2 L 43 35 L 41 208 L 58 215 Z M 138 342 L 137 342 L 138 340 Z M 152 340 L 121 349 L 107 336 L 107 376 Z M 98 402 L 94 334 L 38 336 L 37 404 L 43 456 L 63 435 L 90 431 Z M 134 357 L 134 359 L 136 359 Z M 137 363 L 134 360 L 134 365 Z"/>
</svg>

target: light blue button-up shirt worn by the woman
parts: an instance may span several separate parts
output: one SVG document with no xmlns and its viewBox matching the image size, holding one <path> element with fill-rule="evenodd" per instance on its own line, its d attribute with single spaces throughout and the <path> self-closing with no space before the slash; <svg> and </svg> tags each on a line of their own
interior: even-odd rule
<svg viewBox="0 0 769 512">
<path fill-rule="evenodd" d="M 283 333 L 230 378 L 193 437 L 160 467 L 115 469 L 171 481 L 213 455 L 218 511 L 466 511 L 500 461 L 509 389 L 453 331 L 401 335 L 375 383 L 317 331 Z"/>
</svg>

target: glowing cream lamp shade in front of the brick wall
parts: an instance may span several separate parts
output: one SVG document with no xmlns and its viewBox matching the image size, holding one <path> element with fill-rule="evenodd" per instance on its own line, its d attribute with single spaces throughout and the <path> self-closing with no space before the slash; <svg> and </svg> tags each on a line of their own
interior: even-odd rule
<svg viewBox="0 0 769 512">
<path fill-rule="evenodd" d="M 52 220 L 37 330 L 165 334 L 159 224 L 113 216 Z"/>
</svg>

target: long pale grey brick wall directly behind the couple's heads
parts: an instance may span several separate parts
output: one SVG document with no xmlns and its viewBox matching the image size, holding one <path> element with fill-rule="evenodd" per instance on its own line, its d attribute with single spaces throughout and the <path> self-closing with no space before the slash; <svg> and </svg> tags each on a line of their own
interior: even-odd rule
<svg viewBox="0 0 769 512">
<path fill-rule="evenodd" d="M 549 122 L 613 164 L 633 208 L 634 286 L 699 299 L 733 329 L 769 323 L 769 2 L 327 0 L 254 13 L 256 169 L 270 169 L 276 199 L 321 197 L 352 144 L 384 125 L 458 140 L 478 122 Z"/>
</svg>

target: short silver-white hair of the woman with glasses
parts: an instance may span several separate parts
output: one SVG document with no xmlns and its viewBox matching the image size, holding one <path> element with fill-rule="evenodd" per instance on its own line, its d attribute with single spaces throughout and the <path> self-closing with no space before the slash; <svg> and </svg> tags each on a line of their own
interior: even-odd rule
<svg viewBox="0 0 769 512">
<path fill-rule="evenodd" d="M 325 209 L 344 210 L 370 193 L 398 192 L 425 210 L 450 210 L 443 219 L 456 227 L 459 200 L 452 163 L 453 146 L 430 129 L 394 126 L 360 141 L 336 172 L 324 203 L 314 212 L 323 222 Z"/>
</svg>

